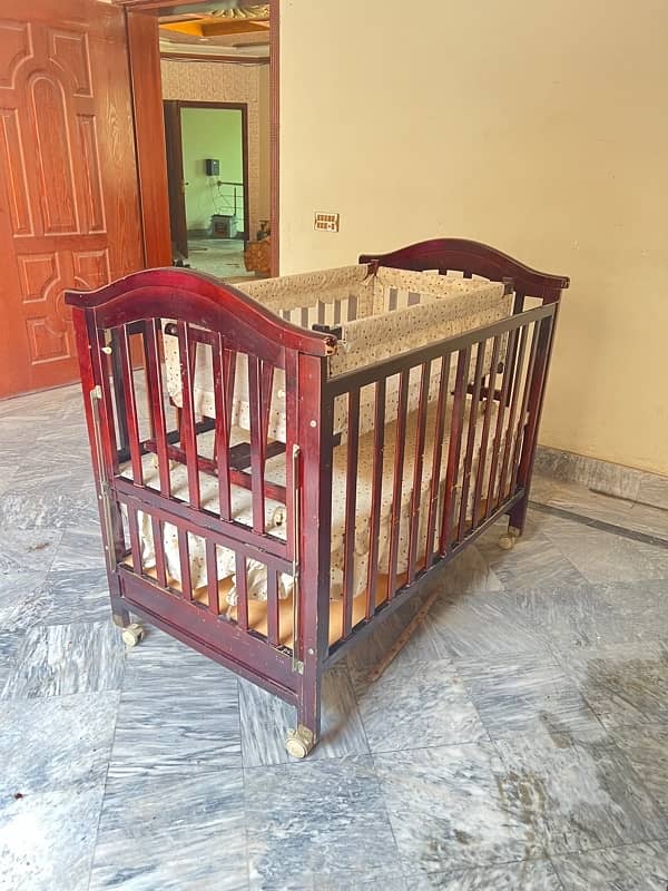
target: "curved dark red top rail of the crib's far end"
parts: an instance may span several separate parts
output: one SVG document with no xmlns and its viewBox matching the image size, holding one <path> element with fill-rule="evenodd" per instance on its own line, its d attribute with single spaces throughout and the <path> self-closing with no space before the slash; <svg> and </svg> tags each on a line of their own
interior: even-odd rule
<svg viewBox="0 0 668 891">
<path fill-rule="evenodd" d="M 518 290 L 533 297 L 556 298 L 553 295 L 570 284 L 566 275 L 532 270 L 495 247 L 468 238 L 431 238 L 387 254 L 362 254 L 360 263 L 415 272 L 465 271 L 494 281 L 512 278 Z"/>
</svg>

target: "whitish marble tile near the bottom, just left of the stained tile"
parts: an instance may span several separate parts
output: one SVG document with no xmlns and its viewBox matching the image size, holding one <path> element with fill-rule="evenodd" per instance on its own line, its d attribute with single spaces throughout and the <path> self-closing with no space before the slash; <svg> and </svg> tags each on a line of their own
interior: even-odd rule
<svg viewBox="0 0 668 891">
<path fill-rule="evenodd" d="M 541 854 L 489 743 L 374 755 L 406 875 Z"/>
</svg>

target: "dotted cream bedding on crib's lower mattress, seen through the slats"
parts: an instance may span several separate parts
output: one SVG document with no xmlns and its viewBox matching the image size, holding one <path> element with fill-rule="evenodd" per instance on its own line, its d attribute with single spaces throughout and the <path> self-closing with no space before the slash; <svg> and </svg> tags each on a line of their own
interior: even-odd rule
<svg viewBox="0 0 668 891">
<path fill-rule="evenodd" d="M 471 412 L 471 399 L 466 400 L 466 427 Z M 475 414 L 478 422 L 475 424 L 475 448 L 474 454 L 474 474 L 478 472 L 478 462 L 480 460 L 480 442 L 482 438 L 482 418 L 480 414 L 484 411 L 485 402 L 480 403 L 477 408 Z M 491 405 L 491 429 L 494 429 L 497 404 Z M 429 515 L 429 499 L 431 492 L 431 462 L 433 453 L 433 437 L 434 437 L 434 407 L 428 415 L 426 427 L 426 444 L 424 450 L 424 467 L 422 473 L 422 486 L 420 493 L 420 519 L 419 519 L 419 537 L 418 537 L 418 554 L 424 554 L 426 525 Z M 445 429 L 450 429 L 450 423 L 446 420 Z M 409 538 L 410 538 L 410 508 L 412 500 L 412 480 L 413 480 L 413 461 L 414 461 L 414 446 L 416 435 L 415 417 L 409 418 L 405 437 L 405 463 L 404 463 L 404 483 L 402 489 L 401 511 L 400 511 L 400 536 L 399 536 L 399 555 L 397 555 L 397 572 L 401 575 L 406 570 L 407 556 L 409 556 Z M 464 433 L 465 435 L 465 433 Z M 236 429 L 234 431 L 234 441 L 243 441 L 245 431 Z M 199 437 L 202 440 L 200 454 L 209 454 L 213 449 L 213 433 L 203 434 Z M 444 490 L 444 462 L 448 456 L 448 439 L 444 440 L 443 446 L 443 461 L 440 472 L 441 486 L 439 491 L 439 503 Z M 394 467 L 394 448 L 395 448 L 395 425 L 389 423 L 385 428 L 385 458 L 384 458 L 384 472 L 382 484 L 382 499 L 381 499 L 381 522 L 380 522 L 380 537 L 379 537 L 379 571 L 386 572 L 389 565 L 389 549 L 390 549 L 390 525 L 392 516 L 392 487 L 393 487 L 393 467 Z M 488 453 L 491 450 L 491 443 L 488 442 Z M 367 569 L 369 569 L 369 547 L 370 547 L 370 517 L 372 506 L 372 472 L 374 460 L 374 437 L 373 432 L 361 435 L 360 438 L 360 453 L 357 467 L 357 487 L 356 487 L 356 518 L 355 518 L 355 545 L 354 545 L 354 566 L 353 566 L 353 595 L 356 597 L 366 589 Z M 464 454 L 461 456 L 461 467 L 464 463 Z M 460 469 L 461 469 L 460 467 Z M 483 492 L 487 493 L 487 486 L 489 480 L 490 461 L 484 461 L 484 476 L 483 476 Z M 151 488 L 158 488 L 158 471 L 155 457 L 144 457 L 144 472 L 145 484 Z M 128 479 L 131 479 L 131 468 L 126 466 L 122 473 Z M 268 482 L 285 483 L 285 457 L 276 456 L 267 459 L 265 477 Z M 332 535 L 331 535 L 331 549 L 332 549 L 332 567 L 331 567 L 331 598 L 341 598 L 343 594 L 343 572 L 344 572 L 344 531 L 345 531 L 345 480 L 346 480 L 346 449 L 337 447 L 334 449 L 333 462 L 333 500 L 332 500 Z M 187 500 L 188 496 L 188 481 L 186 468 L 174 462 L 170 469 L 170 482 L 174 497 Z M 218 511 L 218 483 L 217 479 L 200 473 L 200 491 L 203 507 L 214 512 Z M 246 489 L 237 486 L 232 487 L 233 498 L 233 517 L 238 522 L 252 525 L 252 496 Z M 468 497 L 468 516 L 471 513 L 473 499 L 473 482 Z M 277 538 L 285 539 L 285 511 L 283 506 L 266 499 L 265 502 L 265 522 L 268 533 Z M 459 507 L 455 506 L 455 516 L 458 515 Z M 141 542 L 141 560 L 145 571 L 150 571 L 156 564 L 155 547 L 153 540 L 153 527 L 150 518 L 138 512 L 138 527 Z M 189 536 L 189 556 L 190 556 L 190 576 L 194 588 L 200 588 L 207 584 L 206 575 L 206 556 L 204 539 L 190 535 Z M 168 575 L 180 582 L 181 570 L 179 559 L 179 548 L 176 529 L 169 523 L 164 527 L 164 551 L 166 558 L 166 569 Z M 236 590 L 236 564 L 235 555 L 232 550 L 223 547 L 217 548 L 217 571 L 218 580 L 229 579 L 229 587 L 226 591 L 226 598 L 229 606 L 235 606 L 237 601 Z M 278 584 L 278 595 L 282 599 L 291 596 L 293 589 L 293 579 L 289 576 L 281 576 Z M 248 597 L 252 599 L 264 600 L 266 599 L 266 568 L 263 564 L 254 560 L 247 562 L 247 590 Z"/>
</svg>

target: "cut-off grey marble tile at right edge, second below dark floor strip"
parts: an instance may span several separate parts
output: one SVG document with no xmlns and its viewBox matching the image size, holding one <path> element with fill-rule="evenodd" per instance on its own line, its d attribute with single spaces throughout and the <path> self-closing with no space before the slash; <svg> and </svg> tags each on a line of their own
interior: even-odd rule
<svg viewBox="0 0 668 891">
<path fill-rule="evenodd" d="M 668 640 L 668 580 L 597 585 L 596 594 L 644 640 Z"/>
</svg>

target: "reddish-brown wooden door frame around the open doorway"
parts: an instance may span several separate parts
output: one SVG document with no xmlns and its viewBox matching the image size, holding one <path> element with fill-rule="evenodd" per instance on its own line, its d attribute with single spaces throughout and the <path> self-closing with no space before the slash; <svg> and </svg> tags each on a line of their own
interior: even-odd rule
<svg viewBox="0 0 668 891">
<path fill-rule="evenodd" d="M 171 234 L 167 194 L 167 160 L 160 78 L 158 14 L 184 0 L 115 0 L 125 7 L 128 56 L 135 110 L 135 141 L 139 170 L 139 198 L 144 224 L 146 263 L 171 263 Z M 269 200 L 272 275 L 279 273 L 279 0 L 269 0 Z M 220 0 L 190 0 L 189 9 L 219 8 Z M 248 2 L 233 0 L 229 7 Z M 158 8 L 159 7 L 159 8 Z M 206 58 L 203 58 L 206 61 Z"/>
</svg>

